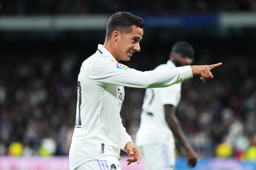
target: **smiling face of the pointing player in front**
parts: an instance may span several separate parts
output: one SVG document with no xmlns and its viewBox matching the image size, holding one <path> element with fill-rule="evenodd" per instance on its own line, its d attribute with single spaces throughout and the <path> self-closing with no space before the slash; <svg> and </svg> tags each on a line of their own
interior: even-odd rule
<svg viewBox="0 0 256 170">
<path fill-rule="evenodd" d="M 114 32 L 115 37 L 115 54 L 113 55 L 116 58 L 116 61 L 130 61 L 130 57 L 135 51 L 140 51 L 140 41 L 143 36 L 143 29 L 136 26 L 131 26 L 131 33 L 120 33 Z"/>
</svg>

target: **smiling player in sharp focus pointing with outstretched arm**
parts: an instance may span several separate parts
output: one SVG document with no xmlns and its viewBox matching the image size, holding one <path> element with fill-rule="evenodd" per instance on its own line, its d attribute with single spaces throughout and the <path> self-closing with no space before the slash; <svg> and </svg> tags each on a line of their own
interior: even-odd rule
<svg viewBox="0 0 256 170">
<path fill-rule="evenodd" d="M 213 65 L 183 66 L 167 70 L 138 71 L 119 61 L 129 61 L 140 51 L 144 21 L 128 12 L 116 12 L 107 22 L 106 37 L 96 52 L 81 65 L 77 80 L 75 129 L 69 151 L 70 169 L 120 170 L 121 149 L 127 152 L 127 165 L 139 164 L 140 150 L 127 134 L 120 110 L 124 86 L 166 87 L 201 75 L 203 82 L 213 78 Z"/>
</svg>

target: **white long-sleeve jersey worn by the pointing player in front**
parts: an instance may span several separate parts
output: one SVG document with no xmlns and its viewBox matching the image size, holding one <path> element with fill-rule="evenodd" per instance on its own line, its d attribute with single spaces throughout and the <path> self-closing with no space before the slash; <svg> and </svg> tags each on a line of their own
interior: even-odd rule
<svg viewBox="0 0 256 170">
<path fill-rule="evenodd" d="M 69 151 L 70 169 L 89 160 L 121 159 L 120 149 L 132 141 L 122 124 L 124 86 L 167 87 L 192 78 L 190 66 L 138 71 L 116 59 L 102 45 L 81 66 L 77 83 L 75 129 Z"/>
</svg>

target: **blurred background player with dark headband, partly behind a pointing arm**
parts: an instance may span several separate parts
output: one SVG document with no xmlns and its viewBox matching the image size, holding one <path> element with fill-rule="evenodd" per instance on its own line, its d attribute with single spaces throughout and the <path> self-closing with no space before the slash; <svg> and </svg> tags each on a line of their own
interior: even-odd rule
<svg viewBox="0 0 256 170">
<path fill-rule="evenodd" d="M 155 70 L 190 65 L 193 58 L 194 49 L 191 44 L 187 41 L 178 41 L 172 46 L 167 63 L 159 65 Z M 174 137 L 186 151 L 187 165 L 190 167 L 196 165 L 197 155 L 175 114 L 180 97 L 181 83 L 164 88 L 146 89 L 135 143 L 141 150 L 145 170 L 174 169 Z"/>
</svg>

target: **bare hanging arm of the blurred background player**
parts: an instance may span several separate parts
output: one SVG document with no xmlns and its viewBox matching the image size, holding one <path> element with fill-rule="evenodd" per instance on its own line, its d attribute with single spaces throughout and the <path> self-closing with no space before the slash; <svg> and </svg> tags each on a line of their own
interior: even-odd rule
<svg viewBox="0 0 256 170">
<path fill-rule="evenodd" d="M 164 112 L 165 120 L 172 130 L 173 135 L 179 140 L 180 144 L 186 150 L 186 158 L 188 160 L 187 165 L 194 167 L 197 163 L 197 155 L 181 129 L 180 122 L 175 114 L 175 107 L 170 104 L 164 105 Z"/>
</svg>

